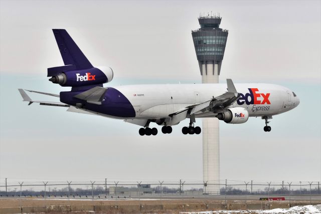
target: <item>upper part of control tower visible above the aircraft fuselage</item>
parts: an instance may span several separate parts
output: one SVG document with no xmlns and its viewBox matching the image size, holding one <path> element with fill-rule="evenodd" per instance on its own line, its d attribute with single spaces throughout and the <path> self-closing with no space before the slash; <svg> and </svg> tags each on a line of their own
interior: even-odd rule
<svg viewBox="0 0 321 214">
<path fill-rule="evenodd" d="M 228 31 L 220 28 L 221 17 L 198 18 L 201 28 L 192 31 L 203 83 L 218 83 Z"/>
</svg>

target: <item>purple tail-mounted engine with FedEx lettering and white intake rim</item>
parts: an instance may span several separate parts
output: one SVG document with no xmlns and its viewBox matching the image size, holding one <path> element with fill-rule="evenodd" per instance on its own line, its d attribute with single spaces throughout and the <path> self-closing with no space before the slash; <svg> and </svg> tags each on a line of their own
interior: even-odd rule
<svg viewBox="0 0 321 214">
<path fill-rule="evenodd" d="M 88 86 L 108 83 L 112 80 L 114 73 L 109 67 L 98 67 L 89 69 L 76 69 L 63 71 L 53 76 L 49 81 L 61 86 Z"/>
</svg>

